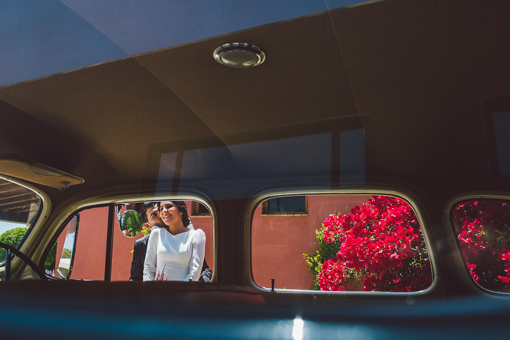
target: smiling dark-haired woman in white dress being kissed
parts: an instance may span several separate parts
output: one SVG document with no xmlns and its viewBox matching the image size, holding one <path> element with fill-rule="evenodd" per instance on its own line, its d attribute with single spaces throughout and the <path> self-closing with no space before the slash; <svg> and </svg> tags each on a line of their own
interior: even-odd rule
<svg viewBox="0 0 510 340">
<path fill-rule="evenodd" d="M 197 281 L 206 252 L 206 234 L 192 230 L 184 201 L 161 201 L 164 227 L 152 227 L 143 265 L 143 280 Z"/>
</svg>

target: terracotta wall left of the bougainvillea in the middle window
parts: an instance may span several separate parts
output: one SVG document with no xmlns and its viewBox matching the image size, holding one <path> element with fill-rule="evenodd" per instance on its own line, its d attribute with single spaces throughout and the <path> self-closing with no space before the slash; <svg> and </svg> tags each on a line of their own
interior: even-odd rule
<svg viewBox="0 0 510 340">
<path fill-rule="evenodd" d="M 315 230 L 338 211 L 350 210 L 370 199 L 370 195 L 322 195 L 308 197 L 308 214 L 301 216 L 262 215 L 262 204 L 253 215 L 251 265 L 254 281 L 263 287 L 310 289 L 313 277 L 303 253 L 317 249 Z"/>
</svg>

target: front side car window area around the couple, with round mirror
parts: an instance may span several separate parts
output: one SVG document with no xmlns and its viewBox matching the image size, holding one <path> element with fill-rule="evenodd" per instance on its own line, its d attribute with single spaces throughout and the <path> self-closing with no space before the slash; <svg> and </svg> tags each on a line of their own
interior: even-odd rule
<svg viewBox="0 0 510 340">
<path fill-rule="evenodd" d="M 204 258 L 210 272 L 205 275 L 208 275 L 210 280 L 212 268 L 214 268 L 213 218 L 207 206 L 202 203 L 200 204 L 203 215 L 192 216 L 194 207 L 199 206 L 198 202 L 191 200 L 185 202 L 192 217 L 192 228 L 201 229 L 206 235 Z M 139 212 L 143 203 L 133 202 L 90 207 L 72 215 L 77 216 L 78 219 L 77 221 L 71 219 L 60 231 L 59 237 L 46 257 L 46 273 L 60 279 L 141 280 L 141 275 L 136 277 L 133 274 L 133 263 L 137 256 L 139 260 L 141 257 L 138 269 L 140 271 L 143 269 L 146 248 L 143 249 L 141 255 L 141 248 L 135 247 L 135 242 L 143 241 L 151 231 L 145 227 L 142 228 L 141 225 L 138 230 L 133 224 L 136 221 L 142 222 Z M 113 213 L 114 209 L 115 213 Z M 112 218 L 111 221 L 109 221 L 109 216 Z M 128 225 L 122 228 L 119 222 Z M 111 228 L 111 239 L 109 239 L 109 228 Z M 69 241 L 70 236 L 72 242 Z M 109 242 L 111 242 L 110 247 L 108 246 Z M 70 275 L 67 275 L 66 270 Z"/>
</svg>

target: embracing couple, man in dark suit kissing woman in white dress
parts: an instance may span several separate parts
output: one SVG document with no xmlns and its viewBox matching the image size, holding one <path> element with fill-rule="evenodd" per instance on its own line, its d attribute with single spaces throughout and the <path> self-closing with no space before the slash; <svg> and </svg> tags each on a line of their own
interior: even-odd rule
<svg viewBox="0 0 510 340">
<path fill-rule="evenodd" d="M 130 280 L 211 280 L 206 234 L 194 230 L 184 201 L 144 202 L 140 216 L 151 232 L 135 242 Z"/>
</svg>

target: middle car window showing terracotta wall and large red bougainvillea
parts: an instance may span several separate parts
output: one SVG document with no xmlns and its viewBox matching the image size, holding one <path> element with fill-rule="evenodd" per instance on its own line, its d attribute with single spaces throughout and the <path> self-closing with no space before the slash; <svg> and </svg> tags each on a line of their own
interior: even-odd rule
<svg viewBox="0 0 510 340">
<path fill-rule="evenodd" d="M 380 195 L 309 195 L 307 213 L 253 212 L 253 280 L 275 289 L 418 292 L 432 283 L 422 226 L 403 199 Z M 293 199 L 291 199 L 293 198 Z M 271 204 L 271 203 L 269 203 Z"/>
</svg>

